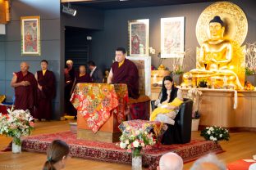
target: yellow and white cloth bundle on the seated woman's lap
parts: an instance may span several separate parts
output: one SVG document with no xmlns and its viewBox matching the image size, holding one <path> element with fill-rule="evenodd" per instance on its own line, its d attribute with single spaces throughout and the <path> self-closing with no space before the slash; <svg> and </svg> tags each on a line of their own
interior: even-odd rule
<svg viewBox="0 0 256 170">
<path fill-rule="evenodd" d="M 179 112 L 179 106 L 183 103 L 181 99 L 176 97 L 171 103 L 160 105 L 157 109 L 153 110 L 150 115 L 150 121 L 159 121 L 168 124 L 174 124 L 176 114 Z M 173 106 L 176 109 L 169 109 Z"/>
</svg>

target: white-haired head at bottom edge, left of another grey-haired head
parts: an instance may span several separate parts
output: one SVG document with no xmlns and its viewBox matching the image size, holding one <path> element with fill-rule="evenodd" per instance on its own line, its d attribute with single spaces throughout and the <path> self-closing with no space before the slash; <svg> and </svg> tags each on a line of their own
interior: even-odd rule
<svg viewBox="0 0 256 170">
<path fill-rule="evenodd" d="M 163 154 L 160 161 L 158 170 L 182 170 L 183 169 L 183 160 L 181 156 L 176 153 L 169 152 Z"/>
</svg>

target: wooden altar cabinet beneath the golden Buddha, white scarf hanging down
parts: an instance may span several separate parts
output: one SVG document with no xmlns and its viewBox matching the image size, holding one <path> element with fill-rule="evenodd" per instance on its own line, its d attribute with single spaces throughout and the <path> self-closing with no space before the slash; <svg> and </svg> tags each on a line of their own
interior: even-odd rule
<svg viewBox="0 0 256 170">
<path fill-rule="evenodd" d="M 188 89 L 181 89 L 187 92 Z M 256 92 L 199 88 L 203 92 L 200 128 L 220 126 L 235 131 L 256 130 Z M 184 94 L 185 95 L 185 94 Z"/>
</svg>

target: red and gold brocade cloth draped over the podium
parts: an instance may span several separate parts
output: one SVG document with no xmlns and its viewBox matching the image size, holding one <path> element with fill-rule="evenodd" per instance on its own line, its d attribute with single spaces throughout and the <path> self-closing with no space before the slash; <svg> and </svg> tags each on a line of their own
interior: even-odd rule
<svg viewBox="0 0 256 170">
<path fill-rule="evenodd" d="M 71 103 L 95 133 L 111 114 L 117 115 L 118 123 L 126 119 L 128 89 L 126 84 L 78 83 Z"/>
</svg>

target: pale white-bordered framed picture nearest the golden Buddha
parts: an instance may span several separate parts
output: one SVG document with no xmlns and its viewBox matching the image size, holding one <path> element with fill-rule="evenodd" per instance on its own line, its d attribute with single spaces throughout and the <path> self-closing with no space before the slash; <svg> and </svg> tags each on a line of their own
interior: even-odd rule
<svg viewBox="0 0 256 170">
<path fill-rule="evenodd" d="M 161 58 L 184 56 L 184 16 L 161 18 Z"/>
</svg>

